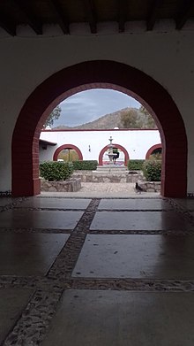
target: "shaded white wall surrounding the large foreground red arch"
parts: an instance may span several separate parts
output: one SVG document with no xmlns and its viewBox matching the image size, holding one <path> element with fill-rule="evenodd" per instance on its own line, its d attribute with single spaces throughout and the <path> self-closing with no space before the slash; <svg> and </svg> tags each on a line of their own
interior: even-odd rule
<svg viewBox="0 0 194 346">
<path fill-rule="evenodd" d="M 194 30 L 185 26 L 175 31 L 173 26 L 169 25 L 167 30 L 156 25 L 153 32 L 146 32 L 145 25 L 137 24 L 132 29 L 128 27 L 126 33 L 114 35 L 108 26 L 99 27 L 98 35 L 90 35 L 77 27 L 71 30 L 71 35 L 62 35 L 57 30 L 53 33 L 49 27 L 43 36 L 35 36 L 22 28 L 20 37 L 1 31 L 0 190 L 11 188 L 12 132 L 19 111 L 34 88 L 65 66 L 108 59 L 144 71 L 173 97 L 188 136 L 188 192 L 193 192 Z"/>
</svg>

